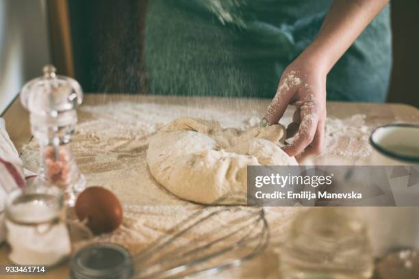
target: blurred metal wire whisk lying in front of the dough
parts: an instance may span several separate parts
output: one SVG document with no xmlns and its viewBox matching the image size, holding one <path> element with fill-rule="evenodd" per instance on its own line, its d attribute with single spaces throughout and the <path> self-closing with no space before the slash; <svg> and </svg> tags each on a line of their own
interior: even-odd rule
<svg viewBox="0 0 419 279">
<path fill-rule="evenodd" d="M 205 207 L 135 255 L 134 278 L 216 273 L 261 254 L 268 241 L 264 209 Z"/>
</svg>

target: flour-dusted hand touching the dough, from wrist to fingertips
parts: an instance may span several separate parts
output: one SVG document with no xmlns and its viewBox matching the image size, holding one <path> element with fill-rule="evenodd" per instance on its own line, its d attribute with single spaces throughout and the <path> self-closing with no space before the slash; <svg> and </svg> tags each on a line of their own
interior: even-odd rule
<svg viewBox="0 0 419 279">
<path fill-rule="evenodd" d="M 283 72 L 277 94 L 270 103 L 264 119 L 275 124 L 288 105 L 295 105 L 293 123 L 288 134 L 298 131 L 290 146 L 284 148 L 290 156 L 303 150 L 316 154 L 322 151 L 326 120 L 327 67 L 303 53 Z"/>
</svg>

